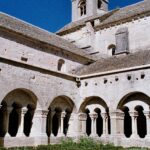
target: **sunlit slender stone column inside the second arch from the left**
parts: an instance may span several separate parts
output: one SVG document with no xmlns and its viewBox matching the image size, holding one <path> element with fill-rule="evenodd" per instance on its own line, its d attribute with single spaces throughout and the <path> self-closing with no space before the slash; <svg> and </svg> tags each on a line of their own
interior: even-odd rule
<svg viewBox="0 0 150 150">
<path fill-rule="evenodd" d="M 66 112 L 63 111 L 60 115 L 60 124 L 59 124 L 59 132 L 58 132 L 58 137 L 65 136 L 64 135 L 64 118 L 66 116 Z"/>
</svg>

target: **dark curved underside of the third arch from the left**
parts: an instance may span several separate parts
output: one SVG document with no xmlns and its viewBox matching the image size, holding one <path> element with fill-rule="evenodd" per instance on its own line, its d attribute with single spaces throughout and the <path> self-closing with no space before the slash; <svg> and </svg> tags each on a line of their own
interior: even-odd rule
<svg viewBox="0 0 150 150">
<path fill-rule="evenodd" d="M 84 101 L 82 102 L 82 104 L 79 107 L 78 112 L 84 112 L 87 105 L 93 105 L 93 104 L 95 104 L 95 105 L 98 104 L 98 105 L 102 106 L 105 110 L 108 110 L 108 105 L 102 98 L 100 98 L 98 96 L 91 96 L 91 97 L 87 97 L 84 99 Z"/>
</svg>

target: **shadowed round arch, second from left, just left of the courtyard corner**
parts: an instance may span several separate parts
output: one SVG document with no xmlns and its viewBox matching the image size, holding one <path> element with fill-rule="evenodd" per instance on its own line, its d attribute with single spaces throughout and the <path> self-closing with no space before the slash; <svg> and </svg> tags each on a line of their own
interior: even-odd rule
<svg viewBox="0 0 150 150">
<path fill-rule="evenodd" d="M 71 125 L 70 117 L 76 112 L 76 106 L 68 96 L 60 95 L 53 99 L 47 116 L 47 135 L 67 135 Z M 63 122 L 60 120 L 63 119 Z"/>
</svg>

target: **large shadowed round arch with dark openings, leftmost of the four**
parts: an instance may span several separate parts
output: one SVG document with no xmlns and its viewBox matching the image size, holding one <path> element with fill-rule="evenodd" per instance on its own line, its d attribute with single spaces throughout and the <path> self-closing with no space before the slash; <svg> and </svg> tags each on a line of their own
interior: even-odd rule
<svg viewBox="0 0 150 150">
<path fill-rule="evenodd" d="M 37 96 L 28 89 L 18 88 L 8 92 L 1 102 L 0 136 L 4 137 L 8 132 L 10 136 L 15 137 L 23 119 L 23 132 L 28 137 L 37 103 Z M 24 118 L 21 117 L 23 109 L 26 110 Z"/>
</svg>

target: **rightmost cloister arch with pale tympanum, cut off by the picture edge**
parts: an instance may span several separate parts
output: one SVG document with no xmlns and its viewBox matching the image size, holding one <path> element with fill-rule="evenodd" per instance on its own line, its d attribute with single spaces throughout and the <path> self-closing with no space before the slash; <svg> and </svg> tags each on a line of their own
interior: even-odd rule
<svg viewBox="0 0 150 150">
<path fill-rule="evenodd" d="M 127 138 L 150 136 L 150 98 L 141 92 L 123 97 L 118 108 L 124 112 L 124 135 Z"/>
</svg>

